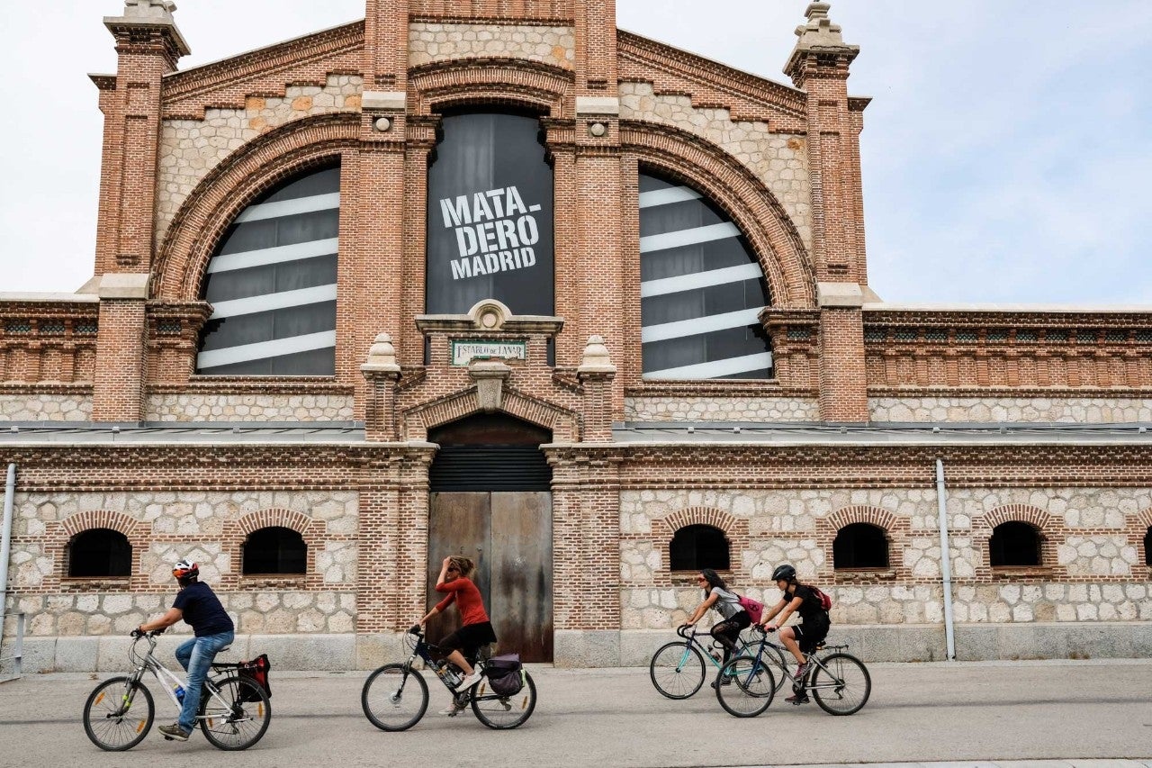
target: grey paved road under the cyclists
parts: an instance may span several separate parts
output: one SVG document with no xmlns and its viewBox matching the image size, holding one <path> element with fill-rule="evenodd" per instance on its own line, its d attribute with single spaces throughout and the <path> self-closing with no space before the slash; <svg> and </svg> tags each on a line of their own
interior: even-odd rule
<svg viewBox="0 0 1152 768">
<path fill-rule="evenodd" d="M 687 701 L 661 698 L 647 670 L 540 668 L 532 670 L 539 706 L 520 730 L 490 731 L 471 714 L 437 716 L 447 693 L 434 687 L 430 714 L 403 733 L 378 731 L 364 718 L 364 672 L 275 670 L 272 726 L 256 747 L 235 756 L 217 753 L 199 733 L 185 744 L 152 736 L 128 753 L 100 752 L 84 736 L 79 714 L 97 677 L 106 676 L 30 676 L 0 684 L 0 766 L 54 768 L 81 760 L 85 767 L 153 766 L 176 755 L 198 761 L 219 756 L 245 768 L 389 762 L 419 768 L 930 761 L 986 766 L 1009 760 L 1063 760 L 1067 767 L 1070 759 L 1152 763 L 1152 661 L 870 669 L 872 699 L 851 717 L 778 700 L 755 720 L 737 720 L 719 708 L 708 688 Z M 167 706 L 157 724 L 174 720 Z"/>
</svg>

